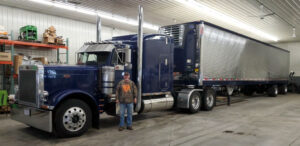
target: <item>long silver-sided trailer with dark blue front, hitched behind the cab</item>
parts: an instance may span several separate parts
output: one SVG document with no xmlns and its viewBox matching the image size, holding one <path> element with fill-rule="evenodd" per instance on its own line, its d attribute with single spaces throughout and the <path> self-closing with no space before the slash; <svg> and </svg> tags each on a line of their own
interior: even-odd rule
<svg viewBox="0 0 300 146">
<path fill-rule="evenodd" d="M 205 95 L 239 90 L 248 96 L 267 92 L 273 97 L 287 93 L 287 50 L 205 21 L 165 26 L 160 32 L 174 38 L 174 89 L 179 101 L 199 91 Z M 202 99 L 206 110 L 213 107 L 206 105 L 215 104 L 210 97 Z M 190 108 L 188 102 L 179 103 L 179 107 Z"/>
</svg>

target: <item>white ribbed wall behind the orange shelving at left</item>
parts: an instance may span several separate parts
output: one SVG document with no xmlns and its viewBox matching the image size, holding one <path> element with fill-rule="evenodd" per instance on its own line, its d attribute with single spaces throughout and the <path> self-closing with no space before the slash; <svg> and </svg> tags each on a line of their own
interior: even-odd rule
<svg viewBox="0 0 300 146">
<path fill-rule="evenodd" d="M 0 25 L 4 26 L 9 33 L 13 31 L 14 40 L 18 38 L 21 27 L 34 25 L 37 27 L 40 41 L 45 29 L 53 25 L 56 28 L 57 36 L 63 36 L 64 39 L 69 38 L 69 64 L 75 64 L 75 52 L 85 42 L 96 41 L 96 17 L 95 24 L 93 24 L 0 5 Z M 101 33 L 102 40 L 105 40 L 112 36 L 133 34 L 134 32 L 102 26 Z M 63 49 L 60 50 L 64 52 Z M 56 50 L 16 48 L 16 53 L 33 57 L 45 56 L 48 57 L 49 62 L 56 61 Z M 65 62 L 65 55 L 61 55 L 61 60 Z"/>
</svg>

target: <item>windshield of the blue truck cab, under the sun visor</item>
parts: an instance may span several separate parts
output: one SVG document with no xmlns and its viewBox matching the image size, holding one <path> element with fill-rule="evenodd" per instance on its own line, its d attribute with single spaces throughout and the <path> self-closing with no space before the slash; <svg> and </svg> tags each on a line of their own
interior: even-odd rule
<svg viewBox="0 0 300 146">
<path fill-rule="evenodd" d="M 77 64 L 103 65 L 106 63 L 111 52 L 91 52 L 79 53 Z"/>
</svg>

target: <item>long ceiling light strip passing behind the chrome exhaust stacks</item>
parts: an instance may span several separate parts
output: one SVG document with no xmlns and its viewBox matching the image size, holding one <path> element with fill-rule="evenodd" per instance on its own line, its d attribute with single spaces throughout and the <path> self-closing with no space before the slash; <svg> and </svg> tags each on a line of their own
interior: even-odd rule
<svg viewBox="0 0 300 146">
<path fill-rule="evenodd" d="M 119 16 L 119 15 L 114 15 L 112 13 L 107 13 L 107 12 L 103 12 L 103 11 L 95 11 L 95 10 L 77 7 L 76 5 L 67 4 L 67 3 L 63 3 L 63 2 L 57 2 L 57 1 L 49 1 L 49 0 L 29 0 L 29 1 L 43 4 L 43 5 L 53 6 L 53 7 L 69 10 L 69 11 L 75 11 L 75 12 L 83 13 L 83 14 L 87 14 L 87 15 L 99 15 L 101 18 L 104 18 L 104 19 L 109 19 L 112 21 L 129 24 L 132 26 L 138 26 L 137 20 L 129 19 L 129 18 Z M 158 31 L 159 26 L 145 22 L 144 28 Z"/>
</svg>

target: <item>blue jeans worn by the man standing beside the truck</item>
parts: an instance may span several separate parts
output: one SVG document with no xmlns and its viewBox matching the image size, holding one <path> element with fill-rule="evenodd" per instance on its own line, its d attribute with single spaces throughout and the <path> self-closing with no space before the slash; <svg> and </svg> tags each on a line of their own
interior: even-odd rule
<svg viewBox="0 0 300 146">
<path fill-rule="evenodd" d="M 133 103 L 120 103 L 120 127 L 124 127 L 124 116 L 125 110 L 127 109 L 127 127 L 132 126 L 132 110 L 133 110 Z"/>
</svg>

